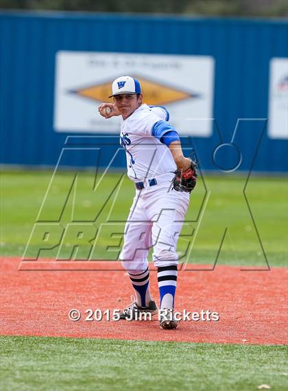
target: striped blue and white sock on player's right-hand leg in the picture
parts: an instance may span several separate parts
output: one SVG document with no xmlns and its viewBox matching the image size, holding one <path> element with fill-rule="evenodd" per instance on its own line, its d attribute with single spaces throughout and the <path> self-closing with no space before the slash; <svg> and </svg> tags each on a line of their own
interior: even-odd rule
<svg viewBox="0 0 288 391">
<path fill-rule="evenodd" d="M 160 309 L 173 309 L 177 283 L 177 265 L 158 267 Z"/>
</svg>

